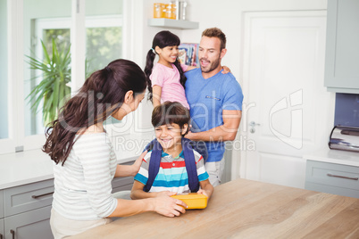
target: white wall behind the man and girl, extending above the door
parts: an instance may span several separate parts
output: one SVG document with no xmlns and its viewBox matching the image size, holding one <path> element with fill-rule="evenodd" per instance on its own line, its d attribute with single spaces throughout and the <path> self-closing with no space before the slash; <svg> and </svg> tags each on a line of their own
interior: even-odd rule
<svg viewBox="0 0 359 239">
<path fill-rule="evenodd" d="M 136 0 L 135 0 L 136 1 Z M 141 1 L 141 0 L 137 0 Z M 147 26 L 147 19 L 153 17 L 154 3 L 169 3 L 169 0 L 142 0 L 143 1 L 143 41 L 141 44 L 142 59 L 135 61 L 145 66 L 146 52 L 152 45 L 154 35 L 163 28 Z M 188 2 L 188 21 L 199 22 L 199 29 L 169 29 L 178 35 L 183 43 L 198 43 L 202 31 L 207 28 L 217 27 L 227 37 L 227 54 L 222 60 L 223 65 L 230 67 L 233 75 L 243 86 L 242 79 L 242 42 L 243 42 L 243 12 L 260 11 L 304 11 L 304 10 L 326 10 L 327 0 L 186 0 Z M 136 30 L 136 29 L 134 29 Z M 246 96 L 246 95 L 245 95 Z M 150 106 L 146 111 L 151 111 Z M 147 125 L 147 113 L 144 114 L 144 126 Z"/>
</svg>

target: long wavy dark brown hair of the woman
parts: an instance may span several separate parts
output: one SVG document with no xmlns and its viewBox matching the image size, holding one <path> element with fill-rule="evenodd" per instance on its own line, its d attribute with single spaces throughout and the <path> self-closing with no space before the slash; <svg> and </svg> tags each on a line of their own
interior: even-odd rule
<svg viewBox="0 0 359 239">
<path fill-rule="evenodd" d="M 76 133 L 104 121 L 121 107 L 126 93 L 134 96 L 146 90 L 146 76 L 135 62 L 115 60 L 103 70 L 97 70 L 85 81 L 46 128 L 43 152 L 56 164 L 66 161 Z"/>
</svg>

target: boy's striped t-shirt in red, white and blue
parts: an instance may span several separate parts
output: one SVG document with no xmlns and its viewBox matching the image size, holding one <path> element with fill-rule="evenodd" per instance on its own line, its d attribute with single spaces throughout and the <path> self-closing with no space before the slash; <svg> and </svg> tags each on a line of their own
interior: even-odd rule
<svg viewBox="0 0 359 239">
<path fill-rule="evenodd" d="M 208 179 L 209 176 L 205 171 L 205 162 L 202 155 L 196 151 L 193 152 L 195 153 L 198 181 L 201 182 Z M 144 185 L 146 185 L 148 180 L 148 166 L 151 159 L 151 153 L 152 151 L 147 152 L 142 161 L 141 168 L 135 177 L 135 180 Z M 163 191 L 175 192 L 177 194 L 190 193 L 183 151 L 180 152 L 179 156 L 176 158 L 173 158 L 166 152 L 162 152 L 160 169 L 157 176 L 154 178 L 154 184 L 149 192 Z"/>
</svg>

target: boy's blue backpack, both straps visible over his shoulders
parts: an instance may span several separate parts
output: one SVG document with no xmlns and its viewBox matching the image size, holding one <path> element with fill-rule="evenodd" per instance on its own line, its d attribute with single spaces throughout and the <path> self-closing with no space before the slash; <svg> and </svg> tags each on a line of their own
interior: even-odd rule
<svg viewBox="0 0 359 239">
<path fill-rule="evenodd" d="M 199 182 L 195 154 L 188 138 L 182 137 L 181 143 L 188 173 L 188 186 L 192 193 L 196 193 L 199 189 Z M 150 151 L 151 149 L 152 154 L 148 166 L 148 180 L 144 186 L 145 192 L 150 190 L 151 186 L 154 184 L 154 178 L 157 176 L 158 171 L 160 170 L 162 146 L 156 139 L 154 139 L 150 144 L 147 144 L 145 151 Z"/>
</svg>

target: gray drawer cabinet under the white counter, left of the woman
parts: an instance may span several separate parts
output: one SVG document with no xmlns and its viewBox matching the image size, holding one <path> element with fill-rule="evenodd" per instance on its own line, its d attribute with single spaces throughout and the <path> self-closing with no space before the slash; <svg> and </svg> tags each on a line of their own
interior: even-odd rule
<svg viewBox="0 0 359 239">
<path fill-rule="evenodd" d="M 4 238 L 54 238 L 49 223 L 53 194 L 54 179 L 4 189 Z"/>
</svg>

